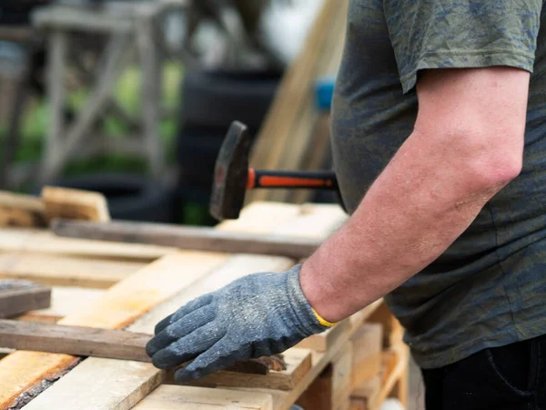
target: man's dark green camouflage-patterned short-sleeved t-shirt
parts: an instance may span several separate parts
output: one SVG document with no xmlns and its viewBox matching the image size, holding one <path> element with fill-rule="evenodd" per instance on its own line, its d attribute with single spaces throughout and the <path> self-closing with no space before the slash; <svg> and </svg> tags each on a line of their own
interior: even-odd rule
<svg viewBox="0 0 546 410">
<path fill-rule="evenodd" d="M 349 0 L 332 108 L 334 163 L 349 212 L 409 137 L 421 69 L 501 65 L 532 73 L 521 175 L 448 251 L 386 298 L 424 368 L 546 333 L 544 26 L 542 0 Z"/>
</svg>

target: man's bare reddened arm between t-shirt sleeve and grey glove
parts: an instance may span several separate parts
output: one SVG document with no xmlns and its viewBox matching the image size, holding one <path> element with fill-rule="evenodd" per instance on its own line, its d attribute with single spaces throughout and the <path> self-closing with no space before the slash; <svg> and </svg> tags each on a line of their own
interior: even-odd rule
<svg viewBox="0 0 546 410">
<path fill-rule="evenodd" d="M 319 315 L 338 322 L 396 289 L 518 176 L 529 80 L 529 72 L 511 67 L 420 77 L 410 138 L 302 267 L 302 290 Z"/>
</svg>

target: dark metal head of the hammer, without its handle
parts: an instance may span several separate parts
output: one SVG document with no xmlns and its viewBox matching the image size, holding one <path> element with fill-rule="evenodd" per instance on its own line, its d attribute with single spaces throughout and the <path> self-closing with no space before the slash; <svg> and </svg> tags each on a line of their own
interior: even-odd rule
<svg viewBox="0 0 546 410">
<path fill-rule="evenodd" d="M 236 220 L 243 208 L 251 142 L 247 126 L 231 123 L 218 153 L 210 196 L 209 211 L 217 220 Z"/>
</svg>

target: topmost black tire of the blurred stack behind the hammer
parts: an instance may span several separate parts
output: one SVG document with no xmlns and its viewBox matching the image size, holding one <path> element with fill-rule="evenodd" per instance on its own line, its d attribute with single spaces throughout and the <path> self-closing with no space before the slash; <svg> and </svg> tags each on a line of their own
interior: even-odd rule
<svg viewBox="0 0 546 410">
<path fill-rule="evenodd" d="M 280 73 L 190 71 L 182 86 L 182 126 L 223 128 L 234 120 L 252 132 L 275 97 Z"/>
</svg>

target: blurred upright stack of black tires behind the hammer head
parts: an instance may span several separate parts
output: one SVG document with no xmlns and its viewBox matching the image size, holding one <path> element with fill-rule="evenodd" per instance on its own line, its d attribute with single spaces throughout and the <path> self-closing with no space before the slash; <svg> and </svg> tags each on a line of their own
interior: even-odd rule
<svg viewBox="0 0 546 410">
<path fill-rule="evenodd" d="M 277 71 L 195 70 L 182 85 L 177 136 L 177 210 L 190 207 L 196 223 L 216 223 L 207 211 L 218 151 L 232 121 L 256 135 L 282 76 Z M 185 217 L 181 217 L 182 220 Z"/>
</svg>

